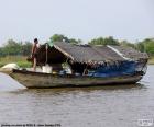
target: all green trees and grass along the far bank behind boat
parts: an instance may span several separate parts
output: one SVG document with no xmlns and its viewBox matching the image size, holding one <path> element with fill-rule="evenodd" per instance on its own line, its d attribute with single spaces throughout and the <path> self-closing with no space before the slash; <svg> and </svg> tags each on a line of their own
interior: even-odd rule
<svg viewBox="0 0 154 127">
<path fill-rule="evenodd" d="M 68 38 L 63 34 L 54 34 L 50 42 L 67 42 L 70 44 L 81 44 L 81 39 Z M 88 42 L 89 45 L 122 45 L 135 48 L 142 53 L 146 51 L 150 56 L 150 64 L 154 64 L 154 38 L 146 38 L 141 42 L 130 43 L 128 41 L 118 41 L 112 36 L 98 37 Z M 26 61 L 26 57 L 31 55 L 32 43 L 30 42 L 15 42 L 9 39 L 3 46 L 0 47 L 0 67 L 9 64 L 16 62 L 21 67 L 31 67 Z"/>
</svg>

